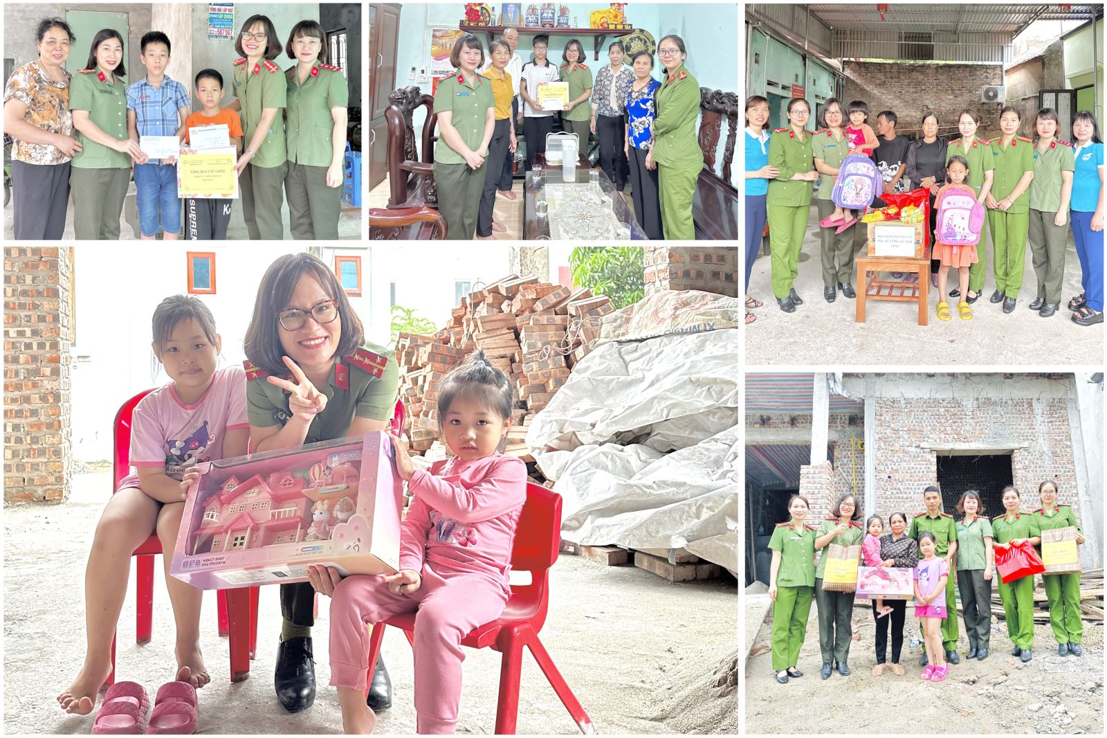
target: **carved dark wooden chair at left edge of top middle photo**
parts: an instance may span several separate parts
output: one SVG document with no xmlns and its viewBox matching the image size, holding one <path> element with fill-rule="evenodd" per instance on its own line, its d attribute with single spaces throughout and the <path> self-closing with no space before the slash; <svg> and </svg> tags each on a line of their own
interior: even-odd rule
<svg viewBox="0 0 1107 738">
<path fill-rule="evenodd" d="M 415 146 L 412 116 L 426 105 L 423 121 L 422 148 Z M 434 142 L 438 116 L 434 114 L 434 98 L 412 85 L 393 90 L 384 111 L 387 124 L 389 205 L 390 209 L 438 207 L 434 187 Z M 423 155 L 420 156 L 418 152 Z"/>
</svg>

